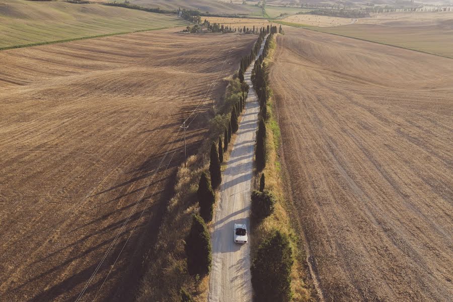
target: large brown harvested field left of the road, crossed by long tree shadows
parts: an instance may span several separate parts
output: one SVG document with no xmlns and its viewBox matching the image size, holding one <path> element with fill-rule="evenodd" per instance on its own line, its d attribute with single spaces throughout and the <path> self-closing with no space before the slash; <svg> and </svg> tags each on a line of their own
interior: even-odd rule
<svg viewBox="0 0 453 302">
<path fill-rule="evenodd" d="M 174 31 L 0 52 L 0 300 L 133 299 L 179 126 L 193 154 L 256 38 Z"/>
</svg>

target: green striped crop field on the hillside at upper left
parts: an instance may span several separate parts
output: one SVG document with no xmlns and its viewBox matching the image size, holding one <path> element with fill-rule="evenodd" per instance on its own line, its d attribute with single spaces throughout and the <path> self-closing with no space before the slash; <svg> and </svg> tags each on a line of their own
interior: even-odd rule
<svg viewBox="0 0 453 302">
<path fill-rule="evenodd" d="M 99 4 L 5 0 L 0 3 L 0 48 L 186 23 L 164 14 Z"/>
</svg>

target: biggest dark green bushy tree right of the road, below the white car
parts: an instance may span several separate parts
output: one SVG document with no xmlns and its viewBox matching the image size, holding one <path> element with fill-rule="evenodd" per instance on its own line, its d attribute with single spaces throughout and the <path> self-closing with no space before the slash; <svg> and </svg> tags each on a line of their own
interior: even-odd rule
<svg viewBox="0 0 453 302">
<path fill-rule="evenodd" d="M 251 266 L 256 301 L 289 302 L 291 292 L 292 249 L 288 235 L 275 231 L 259 247 Z"/>
</svg>

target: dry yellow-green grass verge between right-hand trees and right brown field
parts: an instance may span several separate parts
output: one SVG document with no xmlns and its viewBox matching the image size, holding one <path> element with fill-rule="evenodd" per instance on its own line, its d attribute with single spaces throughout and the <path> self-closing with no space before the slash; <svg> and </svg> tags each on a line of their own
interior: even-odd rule
<svg viewBox="0 0 453 302">
<path fill-rule="evenodd" d="M 276 36 L 276 35 L 275 35 Z M 273 57 L 276 49 L 275 37 L 271 40 L 268 55 L 264 58 L 267 66 L 272 64 Z M 266 189 L 271 190 L 277 199 L 274 212 L 261 220 L 259 223 L 253 223 L 254 240 L 252 241 L 252 259 L 258 249 L 258 246 L 265 238 L 268 238 L 273 230 L 279 230 L 282 233 L 288 234 L 291 247 L 294 255 L 294 264 L 291 270 L 291 289 L 293 292 L 293 301 L 307 302 L 315 301 L 314 291 L 309 285 L 311 283 L 309 275 L 306 273 L 306 255 L 303 249 L 303 243 L 300 242 L 299 236 L 294 232 L 290 216 L 288 215 L 288 205 L 284 198 L 284 190 L 282 184 L 281 166 L 278 159 L 278 148 L 280 146 L 280 128 L 275 118 L 273 110 L 275 104 L 273 103 L 272 90 L 268 86 L 267 92 L 267 114 L 268 120 L 266 121 L 266 167 L 263 171 L 266 178 Z M 254 178 L 255 188 L 259 187 L 260 175 Z"/>
</svg>

